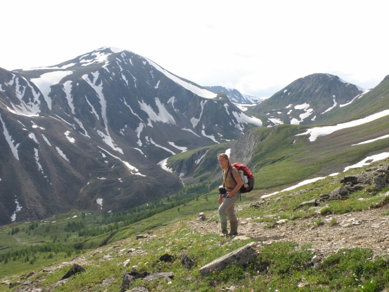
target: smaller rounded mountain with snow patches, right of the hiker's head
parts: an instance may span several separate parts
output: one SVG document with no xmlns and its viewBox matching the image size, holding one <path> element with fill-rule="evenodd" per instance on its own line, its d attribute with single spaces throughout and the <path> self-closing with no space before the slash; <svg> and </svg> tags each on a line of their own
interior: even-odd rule
<svg viewBox="0 0 389 292">
<path fill-rule="evenodd" d="M 316 73 L 293 81 L 248 113 L 261 118 L 264 126 L 319 124 L 330 121 L 330 114 L 347 109 L 367 92 L 338 76 Z"/>
</svg>

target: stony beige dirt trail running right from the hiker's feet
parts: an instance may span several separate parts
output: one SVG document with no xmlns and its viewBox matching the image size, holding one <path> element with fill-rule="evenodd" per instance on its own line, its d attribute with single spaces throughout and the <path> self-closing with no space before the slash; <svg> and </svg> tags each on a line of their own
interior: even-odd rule
<svg viewBox="0 0 389 292">
<path fill-rule="evenodd" d="M 248 206 L 247 206 L 248 207 Z M 324 224 L 307 227 L 312 219 L 295 220 L 264 229 L 268 222 L 253 222 L 253 218 L 238 218 L 238 235 L 270 244 L 275 241 L 296 241 L 300 245 L 311 242 L 319 255 L 336 253 L 341 248 L 371 248 L 375 255 L 389 254 L 389 216 L 381 216 L 389 206 L 363 212 L 323 217 Z M 238 212 L 239 213 L 239 212 Z M 237 214 L 239 215 L 239 214 Z M 337 224 L 330 226 L 331 219 Z M 220 223 L 194 220 L 189 225 L 205 234 L 220 234 Z M 312 223 L 310 224 L 312 226 Z"/>
</svg>

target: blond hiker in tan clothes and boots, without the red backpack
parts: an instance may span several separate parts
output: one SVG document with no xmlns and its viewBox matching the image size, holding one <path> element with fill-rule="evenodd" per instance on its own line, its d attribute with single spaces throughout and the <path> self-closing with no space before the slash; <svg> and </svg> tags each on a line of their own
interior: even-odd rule
<svg viewBox="0 0 389 292">
<path fill-rule="evenodd" d="M 240 198 L 239 189 L 243 182 L 238 170 L 231 165 L 226 153 L 217 154 L 219 164 L 223 169 L 223 185 L 226 188 L 226 197 L 223 201 L 222 194 L 219 193 L 219 219 L 223 236 L 238 235 L 238 220 L 235 215 L 235 202 Z M 232 168 L 232 175 L 230 168 Z M 230 220 L 230 233 L 227 230 L 227 219 Z"/>
</svg>

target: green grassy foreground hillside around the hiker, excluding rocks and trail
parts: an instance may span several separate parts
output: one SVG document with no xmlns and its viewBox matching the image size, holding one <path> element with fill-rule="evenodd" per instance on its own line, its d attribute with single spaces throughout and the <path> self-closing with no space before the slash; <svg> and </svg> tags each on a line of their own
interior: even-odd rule
<svg viewBox="0 0 389 292">
<path fill-rule="evenodd" d="M 377 165 L 376 163 L 375 165 Z M 369 167 L 374 166 L 370 165 Z M 304 186 L 305 192 L 299 195 L 289 196 L 290 192 L 283 192 L 276 195 L 277 198 L 267 199 L 267 203 L 259 208 L 248 207 L 248 201 L 255 200 L 258 192 L 250 193 L 248 197 L 238 203 L 238 217 L 240 219 L 250 219 L 252 222 L 264 222 L 264 231 L 268 228 L 275 228 L 279 219 L 287 219 L 283 224 L 294 228 L 301 226 L 301 230 L 307 228 L 336 228 L 337 222 L 333 220 L 327 222 L 323 220 L 328 214 L 345 214 L 367 210 L 377 201 L 385 200 L 380 194 L 384 194 L 389 188 L 380 192 L 358 191 L 350 195 L 346 200 L 336 200 L 327 202 L 327 207 L 321 209 L 321 215 L 315 213 L 316 208 L 302 207 L 296 212 L 294 209 L 302 201 L 319 199 L 321 193 L 331 192 L 339 186 L 339 178 L 344 175 L 359 173 L 360 169 L 353 169 L 345 174 L 334 178 L 327 178 Z M 297 188 L 300 191 L 302 188 Z M 315 255 L 315 250 L 309 243 L 299 244 L 298 242 L 287 240 L 271 240 L 266 243 L 255 238 L 245 240 L 233 240 L 233 237 L 219 237 L 218 234 L 206 232 L 206 222 L 202 223 L 204 230 L 194 228 L 189 222 L 196 217 L 198 211 L 205 211 L 207 218 L 214 222 L 217 219 L 217 208 L 215 192 L 204 194 L 199 200 L 194 200 L 178 208 L 167 210 L 158 215 L 139 221 L 128 230 L 139 228 L 148 230 L 147 226 L 154 221 L 165 221 L 160 229 L 154 229 L 149 237 L 137 240 L 133 233 L 128 233 L 128 238 L 112 242 L 111 245 L 98 248 L 97 250 L 84 250 L 84 254 L 79 257 L 67 257 L 62 260 L 83 263 L 86 268 L 85 273 L 73 276 L 63 286 L 55 288 L 53 291 L 119 291 L 122 284 L 124 270 L 131 270 L 136 267 L 139 272 L 173 272 L 174 279 L 171 282 L 156 280 L 147 282 L 136 280 L 129 289 L 142 286 L 148 291 L 220 291 L 227 287 L 235 286 L 235 291 L 382 291 L 388 287 L 389 283 L 389 259 L 385 255 L 375 255 L 369 248 L 340 249 L 334 254 L 325 255 L 320 262 L 320 268 L 313 269 L 310 260 Z M 281 198 L 281 199 L 280 199 Z M 360 200 L 360 198 L 364 200 Z M 383 218 L 388 214 L 388 208 L 382 207 Z M 89 215 L 94 219 L 94 215 Z M 101 216 L 101 215 L 100 215 Z M 115 215 L 110 215 L 115 216 Z M 87 220 L 86 216 L 84 219 Z M 77 215 L 78 218 L 78 215 Z M 59 219 L 59 218 L 57 218 Z M 306 220 L 310 220 L 307 224 Z M 69 219 L 68 219 L 69 220 Z M 96 218 L 97 220 L 97 218 Z M 304 221 L 305 220 L 305 221 Z M 58 222 L 58 221 L 57 221 Z M 54 222 L 53 224 L 57 223 Z M 201 225 L 201 224 L 200 224 Z M 27 225 L 26 225 L 27 226 Z M 138 227 L 136 227 L 138 226 Z M 140 227 L 143 226 L 143 227 Z M 242 226 L 242 225 L 240 225 Z M 9 228 L 9 227 L 6 227 Z M 14 226 L 15 228 L 15 226 Z M 39 230 L 38 227 L 37 230 Z M 36 229 L 36 228 L 35 228 Z M 34 229 L 34 230 L 35 230 Z M 276 228 L 277 229 L 277 228 Z M 2 230 L 3 231 L 3 230 Z M 19 231 L 21 232 L 21 231 Z M 123 229 L 122 232 L 125 232 Z M 255 248 L 259 250 L 259 255 L 253 258 L 247 266 L 229 266 L 221 272 L 212 273 L 208 277 L 199 274 L 199 268 L 213 259 L 223 256 L 238 247 L 254 241 Z M 127 254 L 129 249 L 132 252 Z M 163 262 L 159 257 L 163 254 L 174 254 L 173 262 Z M 195 261 L 192 269 L 185 269 L 180 263 L 180 257 L 188 254 Z M 36 252 L 35 257 L 39 260 L 46 257 L 47 253 Z M 49 253 L 50 255 L 50 253 Z M 35 288 L 50 288 L 60 277 L 65 274 L 70 266 L 61 263 L 61 255 L 56 255 L 56 262 L 48 259 L 46 261 L 36 261 L 31 268 L 17 267 L 12 261 L 0 263 L 1 281 L 21 281 L 26 280 L 22 274 L 27 274 L 31 270 L 39 271 L 45 265 L 58 267 L 52 272 L 40 272 L 28 278 L 30 284 Z M 127 267 L 123 266 L 128 259 Z M 16 263 L 19 260 L 15 261 Z M 59 266 L 58 266 L 59 265 Z M 6 271 L 6 272 L 5 272 Z M 13 274 L 13 275 L 10 275 Z M 0 276 L 0 277 L 1 277 Z M 104 279 L 112 278 L 108 286 L 101 286 Z M 20 286 L 18 286 L 20 287 Z M 1 285 L 0 291 L 14 291 L 18 287 L 8 289 L 7 285 Z"/>
</svg>

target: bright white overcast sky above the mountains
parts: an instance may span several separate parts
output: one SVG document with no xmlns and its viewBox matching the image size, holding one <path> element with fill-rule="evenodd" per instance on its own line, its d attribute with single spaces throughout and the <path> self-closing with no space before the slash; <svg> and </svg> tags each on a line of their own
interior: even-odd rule
<svg viewBox="0 0 389 292">
<path fill-rule="evenodd" d="M 114 46 L 259 97 L 312 73 L 369 89 L 389 74 L 388 11 L 383 0 L 2 1 L 0 67 Z"/>
</svg>

